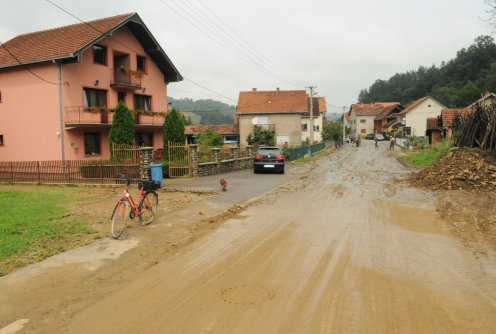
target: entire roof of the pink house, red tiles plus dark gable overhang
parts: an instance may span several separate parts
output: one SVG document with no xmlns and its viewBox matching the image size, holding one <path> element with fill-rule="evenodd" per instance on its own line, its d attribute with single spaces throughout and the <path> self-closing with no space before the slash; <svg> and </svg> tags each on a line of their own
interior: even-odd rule
<svg viewBox="0 0 496 334">
<path fill-rule="evenodd" d="M 14 37 L 3 43 L 5 47 L 0 46 L 0 69 L 20 66 L 19 62 L 27 65 L 52 60 L 74 60 L 87 48 L 110 36 L 113 31 L 124 25 L 143 45 L 150 58 L 164 74 L 166 81 L 182 80 L 181 74 L 136 13 L 122 14 Z"/>
</svg>

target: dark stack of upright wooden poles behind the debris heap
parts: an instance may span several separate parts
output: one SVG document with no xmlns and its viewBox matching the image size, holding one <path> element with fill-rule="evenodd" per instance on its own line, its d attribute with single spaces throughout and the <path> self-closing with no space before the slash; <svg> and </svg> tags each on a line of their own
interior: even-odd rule
<svg viewBox="0 0 496 334">
<path fill-rule="evenodd" d="M 458 147 L 477 147 L 496 153 L 496 105 L 480 106 L 454 120 L 453 140 Z"/>
</svg>

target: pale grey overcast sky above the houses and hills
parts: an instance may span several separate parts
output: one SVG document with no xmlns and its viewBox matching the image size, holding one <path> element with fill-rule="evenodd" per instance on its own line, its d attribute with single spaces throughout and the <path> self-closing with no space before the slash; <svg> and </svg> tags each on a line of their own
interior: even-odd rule
<svg viewBox="0 0 496 334">
<path fill-rule="evenodd" d="M 252 88 L 317 86 L 340 112 L 376 79 L 439 65 L 493 33 L 484 0 L 50 1 L 85 21 L 137 12 L 185 77 L 169 96 L 233 105 Z M 79 23 L 46 0 L 1 5 L 2 42 Z"/>
</svg>

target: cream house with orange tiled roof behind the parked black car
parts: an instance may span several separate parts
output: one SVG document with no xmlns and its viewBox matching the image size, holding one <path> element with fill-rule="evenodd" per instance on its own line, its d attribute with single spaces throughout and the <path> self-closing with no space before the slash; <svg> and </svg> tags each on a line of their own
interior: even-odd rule
<svg viewBox="0 0 496 334">
<path fill-rule="evenodd" d="M 308 131 L 310 120 L 308 99 L 305 90 L 258 91 L 253 88 L 251 91 L 240 92 L 236 107 L 240 145 L 248 145 L 246 138 L 258 126 L 273 131 L 279 146 L 300 146 L 302 137 L 305 136 L 302 133 Z M 314 101 L 315 99 L 317 98 Z M 316 102 L 318 103 L 314 103 L 313 109 L 314 142 L 322 138 L 321 115 L 325 112 L 325 100 L 318 98 Z M 303 130 L 305 124 L 307 130 Z"/>
</svg>

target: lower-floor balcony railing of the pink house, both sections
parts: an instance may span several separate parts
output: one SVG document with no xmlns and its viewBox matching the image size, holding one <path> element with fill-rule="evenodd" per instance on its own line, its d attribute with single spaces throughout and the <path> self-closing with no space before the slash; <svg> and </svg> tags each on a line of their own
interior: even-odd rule
<svg viewBox="0 0 496 334">
<path fill-rule="evenodd" d="M 112 125 L 114 113 L 106 107 L 66 107 L 65 125 Z M 159 113 L 134 113 L 134 124 L 141 126 L 163 126 L 164 116 Z"/>
</svg>

